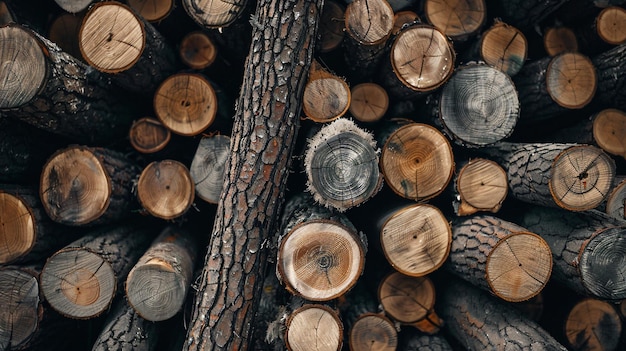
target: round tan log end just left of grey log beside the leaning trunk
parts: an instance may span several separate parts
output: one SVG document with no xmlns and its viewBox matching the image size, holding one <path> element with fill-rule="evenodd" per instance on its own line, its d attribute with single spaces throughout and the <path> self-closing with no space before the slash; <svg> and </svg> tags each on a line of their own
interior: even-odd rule
<svg viewBox="0 0 626 351">
<path fill-rule="evenodd" d="M 174 160 L 150 163 L 137 182 L 137 196 L 143 208 L 162 219 L 173 219 L 187 212 L 194 192 L 189 170 Z"/>
</svg>

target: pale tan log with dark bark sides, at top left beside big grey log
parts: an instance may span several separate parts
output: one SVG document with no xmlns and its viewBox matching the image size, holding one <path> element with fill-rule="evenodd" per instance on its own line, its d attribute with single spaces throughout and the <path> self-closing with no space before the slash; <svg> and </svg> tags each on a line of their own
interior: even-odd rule
<svg viewBox="0 0 626 351">
<path fill-rule="evenodd" d="M 102 23 L 111 23 L 103 26 Z M 78 34 L 85 61 L 120 87 L 151 96 L 177 69 L 174 50 L 142 17 L 117 1 L 89 8 Z"/>
</svg>

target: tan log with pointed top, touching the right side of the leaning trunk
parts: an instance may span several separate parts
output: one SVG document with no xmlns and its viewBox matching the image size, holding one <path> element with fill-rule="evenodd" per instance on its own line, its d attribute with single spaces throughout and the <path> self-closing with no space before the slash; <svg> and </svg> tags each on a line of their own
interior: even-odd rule
<svg viewBox="0 0 626 351">
<path fill-rule="evenodd" d="M 304 114 L 315 122 L 331 122 L 348 111 L 350 101 L 348 83 L 313 61 L 302 97 Z"/>
</svg>

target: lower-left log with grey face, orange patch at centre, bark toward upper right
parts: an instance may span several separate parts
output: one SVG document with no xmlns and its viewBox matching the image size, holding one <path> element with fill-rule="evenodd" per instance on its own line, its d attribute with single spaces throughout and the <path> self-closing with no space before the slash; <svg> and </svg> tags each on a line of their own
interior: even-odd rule
<svg viewBox="0 0 626 351">
<path fill-rule="evenodd" d="M 150 232 L 139 224 L 99 227 L 54 253 L 41 271 L 41 290 L 50 306 L 76 319 L 107 311 L 150 245 Z"/>
</svg>

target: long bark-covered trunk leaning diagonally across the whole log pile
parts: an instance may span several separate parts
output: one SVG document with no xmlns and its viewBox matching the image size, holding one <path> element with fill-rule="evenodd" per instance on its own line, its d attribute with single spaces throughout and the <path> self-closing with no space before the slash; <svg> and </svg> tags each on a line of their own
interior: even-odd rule
<svg viewBox="0 0 626 351">
<path fill-rule="evenodd" d="M 261 25 L 253 28 L 185 350 L 248 347 L 267 260 L 263 243 L 283 201 L 321 7 L 301 0 L 257 4 Z"/>
</svg>

